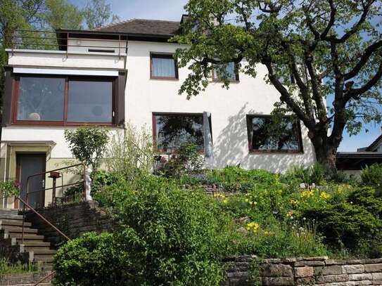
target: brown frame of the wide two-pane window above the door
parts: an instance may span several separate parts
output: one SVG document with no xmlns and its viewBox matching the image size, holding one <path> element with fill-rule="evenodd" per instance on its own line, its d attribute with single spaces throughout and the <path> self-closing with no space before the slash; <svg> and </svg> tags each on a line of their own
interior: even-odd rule
<svg viewBox="0 0 382 286">
<path fill-rule="evenodd" d="M 60 121 L 46 121 L 46 120 L 18 120 L 18 96 L 20 91 L 20 77 L 55 77 L 65 79 L 64 91 L 64 106 L 63 106 L 63 120 Z M 84 82 L 112 82 L 112 121 L 111 122 L 68 122 L 68 97 L 69 97 L 69 81 L 84 81 Z M 12 124 L 15 125 L 47 125 L 47 126 L 82 126 L 82 125 L 96 125 L 96 126 L 115 126 L 115 110 L 117 108 L 117 77 L 103 77 L 103 76 L 77 76 L 77 75 L 58 75 L 58 74 L 15 74 L 13 77 L 13 95 L 12 95 Z"/>
</svg>

